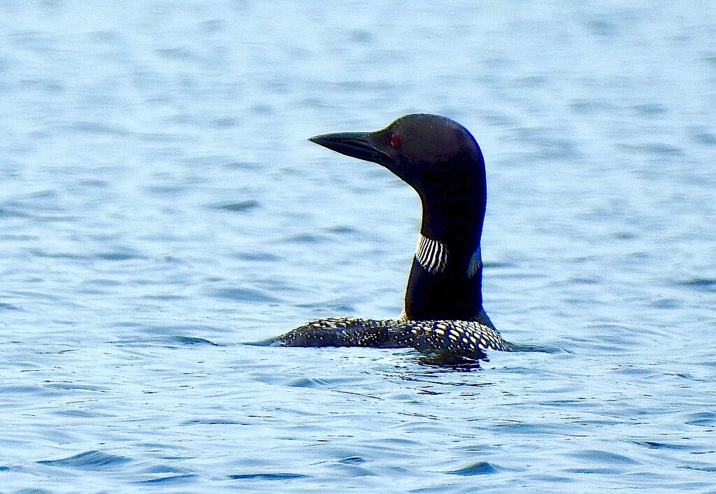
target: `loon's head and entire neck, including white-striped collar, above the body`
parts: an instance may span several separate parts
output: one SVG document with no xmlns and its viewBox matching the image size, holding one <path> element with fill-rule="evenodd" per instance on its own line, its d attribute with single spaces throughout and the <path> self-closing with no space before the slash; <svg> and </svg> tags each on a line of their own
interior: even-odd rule
<svg viewBox="0 0 716 494">
<path fill-rule="evenodd" d="M 311 137 L 384 166 L 417 191 L 422 226 L 408 279 L 408 319 L 472 319 L 482 311 L 480 236 L 485 162 L 465 127 L 439 115 L 401 117 L 376 132 Z"/>
</svg>

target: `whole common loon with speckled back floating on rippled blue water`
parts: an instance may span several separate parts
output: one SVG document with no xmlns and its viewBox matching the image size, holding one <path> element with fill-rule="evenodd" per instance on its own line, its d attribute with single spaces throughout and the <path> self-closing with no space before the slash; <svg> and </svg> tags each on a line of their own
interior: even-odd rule
<svg viewBox="0 0 716 494">
<path fill-rule="evenodd" d="M 480 236 L 485 162 L 465 127 L 438 115 L 401 117 L 377 132 L 316 135 L 312 142 L 372 161 L 417 191 L 422 226 L 397 319 L 311 321 L 269 340 L 286 347 L 413 347 L 445 357 L 511 351 L 483 309 Z"/>
</svg>

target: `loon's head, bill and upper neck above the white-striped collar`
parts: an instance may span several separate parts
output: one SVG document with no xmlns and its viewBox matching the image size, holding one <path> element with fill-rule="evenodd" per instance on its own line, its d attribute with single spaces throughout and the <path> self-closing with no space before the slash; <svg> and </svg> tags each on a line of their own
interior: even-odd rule
<svg viewBox="0 0 716 494">
<path fill-rule="evenodd" d="M 311 137 L 330 150 L 395 173 L 422 200 L 422 233 L 474 249 L 485 215 L 485 162 L 465 127 L 439 115 L 406 115 L 377 132 Z"/>
</svg>

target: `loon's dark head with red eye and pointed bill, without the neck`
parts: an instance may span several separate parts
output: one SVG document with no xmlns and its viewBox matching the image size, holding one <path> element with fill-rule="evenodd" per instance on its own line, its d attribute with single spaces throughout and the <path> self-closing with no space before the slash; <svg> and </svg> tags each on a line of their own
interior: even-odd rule
<svg viewBox="0 0 716 494">
<path fill-rule="evenodd" d="M 401 117 L 377 132 L 342 132 L 311 137 L 330 150 L 384 166 L 418 193 L 445 184 L 483 177 L 478 143 L 465 127 L 439 115 Z"/>
</svg>

